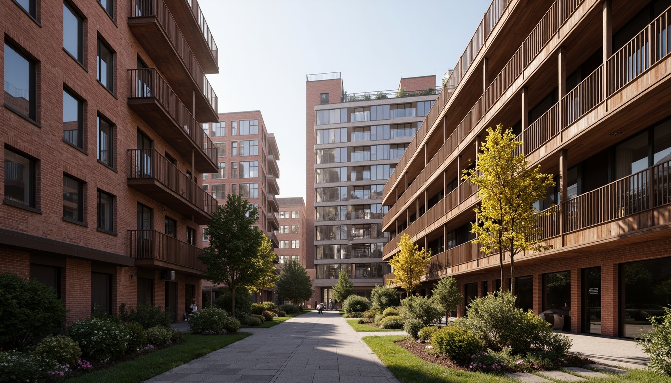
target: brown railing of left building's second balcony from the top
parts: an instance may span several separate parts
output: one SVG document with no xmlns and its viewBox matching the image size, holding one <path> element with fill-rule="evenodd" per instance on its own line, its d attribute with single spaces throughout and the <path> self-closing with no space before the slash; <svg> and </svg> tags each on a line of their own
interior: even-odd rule
<svg viewBox="0 0 671 383">
<path fill-rule="evenodd" d="M 177 23 L 172 18 L 168 7 L 166 7 L 162 0 L 132 0 L 130 19 L 136 17 L 156 17 L 156 21 L 168 37 L 168 40 L 170 40 L 172 48 L 180 56 L 184 66 L 191 74 L 195 85 L 205 95 L 205 98 L 216 113 L 217 95 L 214 93 L 207 77 L 205 77 L 205 72 L 203 72 L 203 68 L 201 68 L 198 60 L 196 60 L 187 40 L 185 40 Z M 203 22 L 205 22 L 205 19 L 203 19 Z M 207 24 L 205 24 L 205 28 L 207 28 Z M 209 33 L 209 30 L 207 32 Z M 214 43 L 214 40 L 211 42 Z"/>
</svg>

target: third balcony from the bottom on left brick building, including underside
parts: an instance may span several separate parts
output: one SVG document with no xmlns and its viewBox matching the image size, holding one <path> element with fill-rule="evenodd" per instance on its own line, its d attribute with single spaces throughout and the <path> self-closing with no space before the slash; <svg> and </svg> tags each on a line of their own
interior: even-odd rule
<svg viewBox="0 0 671 383">
<path fill-rule="evenodd" d="M 128 106 L 203 173 L 219 170 L 217 148 L 156 69 L 130 69 Z"/>
</svg>

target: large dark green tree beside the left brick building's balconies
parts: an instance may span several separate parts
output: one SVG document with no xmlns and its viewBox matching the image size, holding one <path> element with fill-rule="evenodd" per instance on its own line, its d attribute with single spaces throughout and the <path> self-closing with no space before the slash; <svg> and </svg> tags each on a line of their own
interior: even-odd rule
<svg viewBox="0 0 671 383">
<path fill-rule="evenodd" d="M 231 292 L 231 315 L 236 312 L 236 288 L 250 286 L 258 276 L 258 211 L 240 195 L 228 195 L 207 224 L 209 247 L 198 259 L 207 266 L 205 280 L 222 284 Z"/>
</svg>

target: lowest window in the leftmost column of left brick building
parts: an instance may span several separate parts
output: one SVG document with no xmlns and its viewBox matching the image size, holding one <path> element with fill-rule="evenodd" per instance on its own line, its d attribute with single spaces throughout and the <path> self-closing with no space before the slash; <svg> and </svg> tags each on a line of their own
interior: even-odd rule
<svg viewBox="0 0 671 383">
<path fill-rule="evenodd" d="M 36 207 L 35 162 L 5 148 L 5 201 Z"/>
</svg>

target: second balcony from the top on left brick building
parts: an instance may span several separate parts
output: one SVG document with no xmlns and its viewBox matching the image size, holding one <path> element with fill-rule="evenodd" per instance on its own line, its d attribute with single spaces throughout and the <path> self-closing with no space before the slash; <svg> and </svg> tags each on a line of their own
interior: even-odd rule
<svg viewBox="0 0 671 383">
<path fill-rule="evenodd" d="M 217 95 L 163 1 L 132 0 L 128 27 L 196 119 L 217 121 Z"/>
</svg>

